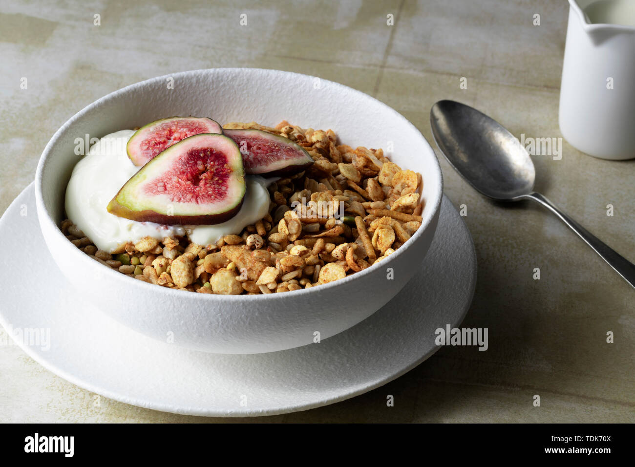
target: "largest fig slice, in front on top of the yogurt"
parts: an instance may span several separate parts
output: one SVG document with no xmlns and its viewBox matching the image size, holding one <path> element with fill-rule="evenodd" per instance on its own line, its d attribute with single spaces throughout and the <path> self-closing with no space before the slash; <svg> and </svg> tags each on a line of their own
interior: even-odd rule
<svg viewBox="0 0 635 467">
<path fill-rule="evenodd" d="M 173 144 L 140 168 L 107 209 L 139 222 L 220 224 L 240 210 L 245 190 L 236 143 L 201 133 Z"/>
</svg>

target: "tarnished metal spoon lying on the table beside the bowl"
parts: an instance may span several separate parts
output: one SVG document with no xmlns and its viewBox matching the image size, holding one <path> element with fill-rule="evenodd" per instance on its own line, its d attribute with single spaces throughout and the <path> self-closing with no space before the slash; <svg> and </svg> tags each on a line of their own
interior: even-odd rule
<svg viewBox="0 0 635 467">
<path fill-rule="evenodd" d="M 536 172 L 525 147 L 497 121 L 453 100 L 430 111 L 432 134 L 448 162 L 472 187 L 498 201 L 535 200 L 577 233 L 635 287 L 635 265 L 533 191 Z"/>
</svg>

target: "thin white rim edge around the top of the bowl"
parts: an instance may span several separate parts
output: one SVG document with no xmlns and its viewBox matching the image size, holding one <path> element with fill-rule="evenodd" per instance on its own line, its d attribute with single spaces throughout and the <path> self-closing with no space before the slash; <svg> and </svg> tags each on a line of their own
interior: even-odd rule
<svg viewBox="0 0 635 467">
<path fill-rule="evenodd" d="M 148 85 L 153 85 L 155 83 L 161 82 L 164 83 L 164 81 L 167 78 L 187 78 L 188 76 L 192 75 L 192 74 L 197 74 L 197 73 L 204 73 L 204 72 L 219 72 L 219 73 L 236 73 L 236 72 L 250 72 L 250 73 L 262 73 L 265 72 L 267 74 L 270 75 L 274 75 L 274 74 L 288 74 L 291 76 L 295 76 L 298 79 L 315 79 L 318 78 L 320 79 L 321 82 L 328 84 L 329 86 L 333 86 L 334 88 L 338 88 L 342 91 L 346 91 L 348 93 L 353 93 L 354 95 L 357 95 L 360 98 L 366 98 L 366 99 L 370 99 L 371 101 L 374 101 L 376 104 L 380 105 L 381 107 L 384 107 L 385 111 L 387 111 L 389 114 L 391 114 L 392 118 L 396 118 L 396 119 L 401 119 L 403 121 L 403 123 L 405 125 L 409 125 L 413 130 L 415 130 L 415 132 L 421 137 L 421 139 L 423 140 L 424 144 L 427 145 L 430 149 L 431 152 L 431 157 L 432 157 L 432 168 L 434 169 L 433 172 L 431 172 L 429 175 L 427 175 L 425 179 L 429 178 L 429 177 L 436 177 L 439 181 L 439 191 L 434 192 L 434 194 L 432 195 L 431 199 L 427 199 L 426 203 L 424 205 L 424 211 L 427 208 L 428 209 L 428 214 L 426 217 L 424 217 L 424 219 L 422 219 L 422 224 L 421 226 L 417 229 L 417 232 L 415 232 L 415 234 L 413 236 L 411 236 L 411 238 L 406 241 L 406 243 L 404 243 L 404 247 L 398 248 L 393 254 L 389 255 L 389 257 L 387 257 L 384 261 L 382 261 L 382 265 L 383 266 L 387 266 L 389 264 L 391 264 L 392 262 L 395 261 L 396 258 L 400 257 L 401 255 L 405 254 L 406 250 L 408 250 L 409 246 L 412 245 L 413 243 L 415 243 L 415 241 L 417 241 L 419 238 L 421 238 L 421 236 L 423 235 L 424 231 L 427 230 L 427 228 L 430 226 L 432 220 L 434 219 L 436 213 L 439 212 L 439 208 L 441 206 L 441 200 L 443 198 L 443 173 L 441 172 L 441 166 L 439 165 L 439 160 L 436 157 L 436 153 L 434 152 L 434 149 L 432 148 L 432 145 L 428 142 L 427 139 L 425 139 L 424 135 L 420 132 L 420 130 L 418 130 L 418 128 L 413 125 L 413 123 L 411 123 L 410 120 L 408 120 L 407 118 L 405 118 L 402 114 L 400 114 L 398 111 L 396 111 L 395 109 L 393 109 L 392 107 L 390 107 L 387 104 L 384 104 L 384 102 L 378 100 L 375 97 L 372 97 L 371 95 L 368 95 L 366 93 L 364 93 L 363 91 L 359 91 L 356 90 L 354 88 L 351 88 L 350 86 L 346 86 L 346 85 L 342 85 L 341 83 L 337 83 L 336 81 L 330 81 L 328 79 L 324 79 L 324 78 L 319 78 L 317 76 L 311 76 L 311 75 L 307 75 L 307 74 L 302 74 L 302 73 L 296 73 L 296 72 L 291 72 L 291 71 L 283 71 L 283 70 L 276 70 L 276 69 L 262 69 L 262 68 L 251 68 L 251 67 L 221 67 L 221 68 L 208 68 L 208 69 L 196 69 L 196 70 L 189 70 L 189 71 L 182 71 L 182 72 L 178 72 L 178 73 L 172 73 L 172 74 L 166 74 L 166 75 L 162 75 L 162 76 L 157 76 L 155 78 L 150 78 L 150 79 L 145 79 L 144 81 L 138 81 L 137 83 L 133 83 L 131 85 L 128 86 L 124 86 L 123 88 L 120 88 L 116 91 L 112 91 L 110 93 L 108 93 L 107 95 L 98 98 L 97 100 L 91 102 L 91 104 L 86 105 L 86 107 L 84 107 L 83 109 L 81 109 L 81 111 L 77 112 L 76 114 L 74 114 L 74 116 L 72 116 L 71 118 L 69 118 L 67 121 L 65 121 L 64 125 L 60 126 L 60 128 L 58 128 L 57 132 L 55 132 L 53 134 L 53 136 L 51 137 L 51 139 L 49 140 L 49 142 L 46 144 L 46 146 L 44 147 L 44 150 L 42 151 L 42 154 L 40 156 L 40 159 L 37 163 L 37 169 L 36 169 L 36 178 L 35 178 L 35 191 L 36 191 L 36 208 L 37 208 L 37 212 L 38 212 L 38 217 L 39 217 L 39 222 L 40 223 L 45 223 L 48 225 L 48 227 L 55 227 L 53 229 L 53 231 L 56 232 L 57 234 L 57 238 L 61 239 L 63 238 L 65 241 L 68 242 L 69 245 L 72 245 L 72 243 L 70 243 L 70 241 L 67 240 L 67 238 L 64 236 L 64 234 L 62 233 L 62 231 L 60 230 L 59 226 L 56 224 L 56 222 L 53 220 L 53 217 L 51 216 L 50 212 L 48 211 L 48 208 L 46 208 L 46 205 L 44 204 L 44 197 L 42 194 L 42 183 L 43 183 L 43 177 L 44 177 L 44 170 L 45 167 L 48 163 L 48 158 L 50 156 L 50 153 L 53 149 L 53 147 L 55 147 L 55 145 L 58 142 L 58 139 L 60 138 L 60 136 L 62 135 L 62 133 L 64 133 L 70 126 L 74 125 L 74 123 L 76 123 L 77 121 L 79 121 L 81 118 L 84 117 L 85 114 L 87 114 L 88 112 L 92 111 L 95 107 L 98 107 L 99 105 L 101 105 L 104 102 L 107 102 L 109 100 L 112 100 L 114 98 L 117 98 L 119 95 L 123 94 L 123 93 L 128 93 L 130 91 L 135 91 L 138 88 L 144 88 L 145 86 Z M 408 245 L 408 242 L 411 242 L 410 245 Z M 81 261 L 88 261 L 89 258 L 86 257 L 86 254 L 84 252 L 82 252 L 81 250 L 79 250 L 79 248 L 75 247 L 75 245 L 72 245 L 72 250 L 74 250 L 76 252 L 76 257 L 83 257 L 84 259 L 82 260 L 77 260 L 79 262 Z M 166 288 L 166 287 L 159 287 L 157 290 L 157 286 L 154 284 L 150 284 L 150 283 L 145 283 L 144 281 L 140 281 L 140 280 L 135 280 L 134 278 L 130 278 L 128 276 L 126 276 L 125 274 L 121 274 L 119 273 L 119 271 L 115 271 L 114 269 L 112 269 L 111 267 L 106 267 L 103 264 L 98 264 L 97 262 L 95 262 L 95 264 L 97 264 L 98 266 L 101 266 L 104 268 L 104 274 L 109 274 L 107 277 L 112 277 L 113 280 L 116 281 L 121 281 L 123 279 L 125 279 L 126 281 L 122 282 L 123 286 L 126 287 L 126 285 L 132 285 L 133 283 L 135 283 L 135 287 L 141 287 L 141 290 L 147 290 L 148 292 L 155 292 L 155 293 L 160 293 L 160 294 L 168 294 L 168 296 L 178 296 L 178 297 L 182 297 L 182 299 L 185 299 L 185 297 L 190 297 L 191 299 L 194 300 L 206 300 L 206 301 L 247 301 L 247 302 L 252 302 L 252 301 L 258 301 L 258 302 L 262 302 L 262 301 L 277 301 L 277 300 L 284 300 L 285 297 L 287 297 L 287 294 L 257 294 L 257 295 L 246 295 L 246 294 L 240 294 L 240 295 L 220 295 L 220 294 L 182 294 L 181 290 L 176 290 L 174 288 Z M 373 271 L 377 271 L 377 268 L 373 268 L 373 266 L 375 266 L 374 264 L 371 265 L 370 267 L 367 267 L 366 269 L 363 269 L 362 271 L 359 271 L 355 274 L 351 274 L 349 276 L 346 276 L 343 279 L 337 280 L 337 281 L 332 281 L 326 284 L 321 284 L 319 287 L 310 287 L 310 288 L 301 288 L 299 290 L 293 290 L 293 296 L 294 297 L 302 297 L 304 295 L 309 295 L 309 294 L 315 294 L 315 293 L 323 293 L 326 292 L 328 293 L 328 291 L 332 290 L 335 287 L 340 287 L 341 285 L 344 285 L 345 283 L 350 283 L 351 281 L 354 280 L 363 280 L 364 277 L 368 276 L 368 274 L 373 273 Z M 108 269 L 109 271 L 105 271 L 106 269 Z M 134 281 L 134 282 L 132 282 Z M 145 288 L 147 287 L 147 288 Z M 160 292 L 159 292 L 160 290 Z M 174 294 L 178 294 L 178 295 L 174 295 Z M 202 297 L 202 298 L 201 298 Z"/>
</svg>

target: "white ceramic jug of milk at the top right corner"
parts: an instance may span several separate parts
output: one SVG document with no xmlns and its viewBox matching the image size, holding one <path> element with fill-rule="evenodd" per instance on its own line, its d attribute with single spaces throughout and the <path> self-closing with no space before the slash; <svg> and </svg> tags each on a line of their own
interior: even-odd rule
<svg viewBox="0 0 635 467">
<path fill-rule="evenodd" d="M 603 159 L 635 158 L 635 27 L 591 24 L 569 0 L 560 88 L 560 131 L 582 152 Z M 635 2 L 635 0 L 631 0 Z"/>
</svg>

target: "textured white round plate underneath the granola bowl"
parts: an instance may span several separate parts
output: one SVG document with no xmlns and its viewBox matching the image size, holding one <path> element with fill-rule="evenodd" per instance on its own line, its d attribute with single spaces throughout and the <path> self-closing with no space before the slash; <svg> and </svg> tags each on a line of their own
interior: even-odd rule
<svg viewBox="0 0 635 467">
<path fill-rule="evenodd" d="M 420 272 L 370 318 L 318 344 L 285 351 L 194 351 L 138 334 L 78 301 L 44 245 L 34 198 L 31 184 L 0 219 L 0 243 L 19 258 L 0 269 L 0 282 L 10 285 L 4 288 L 0 323 L 14 332 L 44 329 L 42 336 L 50 330 L 49 349 L 45 342 L 18 344 L 58 376 L 93 393 L 164 412 L 274 415 L 375 389 L 438 349 L 434 331 L 461 323 L 476 284 L 472 238 L 444 197 Z M 399 280 L 398 271 L 395 275 Z"/>
</svg>

